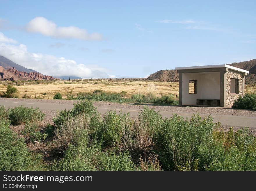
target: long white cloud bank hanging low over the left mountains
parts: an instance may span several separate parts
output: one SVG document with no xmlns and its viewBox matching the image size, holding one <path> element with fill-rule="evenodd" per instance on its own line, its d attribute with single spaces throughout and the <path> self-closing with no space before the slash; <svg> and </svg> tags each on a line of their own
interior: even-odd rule
<svg viewBox="0 0 256 191">
<path fill-rule="evenodd" d="M 13 62 L 51 76 L 79 76 L 81 78 L 109 78 L 108 69 L 97 65 L 86 66 L 64 57 L 32 53 L 26 45 L 0 44 L 0 54 Z"/>
</svg>

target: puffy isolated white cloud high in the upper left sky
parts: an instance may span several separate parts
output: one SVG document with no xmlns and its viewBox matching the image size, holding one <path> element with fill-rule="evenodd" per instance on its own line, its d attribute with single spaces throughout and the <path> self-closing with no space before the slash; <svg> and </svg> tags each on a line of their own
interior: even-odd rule
<svg viewBox="0 0 256 191">
<path fill-rule="evenodd" d="M 80 40 L 102 40 L 100 33 L 89 34 L 86 29 L 76 26 L 57 26 L 53 21 L 44 17 L 35 17 L 26 26 L 26 30 L 34 33 L 41 33 L 45 36 L 56 38 L 75 38 Z"/>
</svg>

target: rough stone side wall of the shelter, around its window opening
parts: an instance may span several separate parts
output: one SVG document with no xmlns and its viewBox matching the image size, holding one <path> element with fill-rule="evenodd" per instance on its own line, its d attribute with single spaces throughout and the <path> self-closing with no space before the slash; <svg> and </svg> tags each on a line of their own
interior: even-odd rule
<svg viewBox="0 0 256 191">
<path fill-rule="evenodd" d="M 226 91 L 227 91 L 227 107 L 231 107 L 233 105 L 233 102 L 235 100 L 237 100 L 237 98 L 240 95 L 243 95 L 243 76 L 241 74 L 235 74 L 232 72 L 226 72 L 226 78 L 227 78 L 227 87 L 226 87 Z M 234 94 L 234 93 L 230 93 L 230 87 L 231 87 L 231 78 L 235 78 L 235 79 L 239 79 L 238 81 L 238 92 L 239 94 Z"/>
</svg>

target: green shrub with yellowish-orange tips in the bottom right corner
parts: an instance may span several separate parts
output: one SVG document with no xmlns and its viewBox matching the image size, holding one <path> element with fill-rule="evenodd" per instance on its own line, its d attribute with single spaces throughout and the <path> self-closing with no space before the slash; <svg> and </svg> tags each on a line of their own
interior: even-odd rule
<svg viewBox="0 0 256 191">
<path fill-rule="evenodd" d="M 255 170 L 256 138 L 249 128 L 215 132 L 214 136 L 225 148 L 225 154 L 214 160 L 209 170 Z"/>
</svg>

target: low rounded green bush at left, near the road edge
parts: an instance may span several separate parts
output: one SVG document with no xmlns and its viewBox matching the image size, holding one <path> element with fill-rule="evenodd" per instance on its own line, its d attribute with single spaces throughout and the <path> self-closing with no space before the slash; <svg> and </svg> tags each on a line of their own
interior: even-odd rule
<svg viewBox="0 0 256 191">
<path fill-rule="evenodd" d="M 45 114 L 39 110 L 39 108 L 27 108 L 24 106 L 18 106 L 8 109 L 8 116 L 12 125 L 24 124 L 26 121 L 41 122 Z"/>
</svg>

